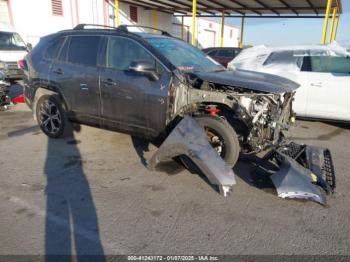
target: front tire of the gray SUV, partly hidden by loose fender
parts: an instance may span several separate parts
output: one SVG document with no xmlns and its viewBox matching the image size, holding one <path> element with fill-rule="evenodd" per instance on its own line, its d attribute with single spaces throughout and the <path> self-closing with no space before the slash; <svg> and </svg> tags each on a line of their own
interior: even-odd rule
<svg viewBox="0 0 350 262">
<path fill-rule="evenodd" d="M 195 119 L 207 132 L 209 143 L 217 149 L 225 162 L 233 167 L 237 163 L 241 148 L 238 136 L 232 126 L 225 119 L 219 117 L 201 116 Z M 214 137 L 212 137 L 213 135 Z M 220 143 L 212 141 L 211 138 L 218 138 Z M 221 151 L 218 150 L 218 147 L 215 147 L 216 145 L 221 147 Z"/>
</svg>

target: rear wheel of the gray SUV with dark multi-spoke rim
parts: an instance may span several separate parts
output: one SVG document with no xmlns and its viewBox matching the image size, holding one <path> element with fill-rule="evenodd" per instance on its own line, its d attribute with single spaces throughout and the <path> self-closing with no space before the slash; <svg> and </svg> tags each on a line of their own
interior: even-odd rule
<svg viewBox="0 0 350 262">
<path fill-rule="evenodd" d="M 41 130 L 51 138 L 72 136 L 73 128 L 57 95 L 43 95 L 36 104 L 36 118 Z"/>
</svg>

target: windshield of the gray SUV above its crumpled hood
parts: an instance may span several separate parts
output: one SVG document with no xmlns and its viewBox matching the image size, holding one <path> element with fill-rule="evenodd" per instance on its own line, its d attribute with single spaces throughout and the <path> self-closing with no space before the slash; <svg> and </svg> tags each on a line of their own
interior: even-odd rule
<svg viewBox="0 0 350 262">
<path fill-rule="evenodd" d="M 175 38 L 147 38 L 177 69 L 190 72 L 212 72 L 225 70 L 199 49 Z"/>
</svg>

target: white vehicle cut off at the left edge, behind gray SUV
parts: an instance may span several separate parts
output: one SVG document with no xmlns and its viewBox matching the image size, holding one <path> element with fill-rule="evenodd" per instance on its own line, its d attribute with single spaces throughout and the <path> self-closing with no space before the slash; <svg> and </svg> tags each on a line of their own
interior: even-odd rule
<svg viewBox="0 0 350 262">
<path fill-rule="evenodd" d="M 0 31 L 0 70 L 7 79 L 21 79 L 23 71 L 17 62 L 28 53 L 31 45 L 26 45 L 16 32 Z"/>
</svg>

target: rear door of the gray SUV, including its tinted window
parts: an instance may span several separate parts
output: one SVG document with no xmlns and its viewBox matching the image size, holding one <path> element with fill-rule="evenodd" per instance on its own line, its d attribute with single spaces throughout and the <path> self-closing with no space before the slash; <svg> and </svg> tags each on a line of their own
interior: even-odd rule
<svg viewBox="0 0 350 262">
<path fill-rule="evenodd" d="M 101 39 L 97 35 L 67 37 L 50 70 L 50 82 L 59 88 L 72 116 L 83 123 L 99 122 L 97 57 Z"/>
</svg>

